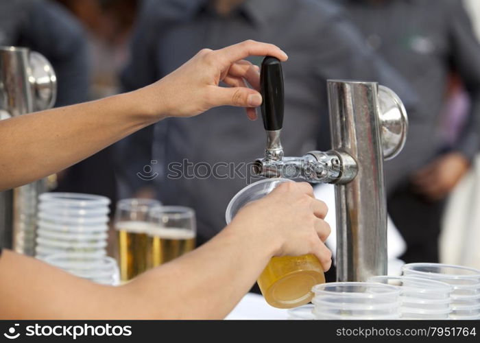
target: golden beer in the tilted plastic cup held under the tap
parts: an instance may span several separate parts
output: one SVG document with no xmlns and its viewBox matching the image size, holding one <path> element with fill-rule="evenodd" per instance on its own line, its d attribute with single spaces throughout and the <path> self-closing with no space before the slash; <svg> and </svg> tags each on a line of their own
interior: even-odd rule
<svg viewBox="0 0 480 343">
<path fill-rule="evenodd" d="M 313 254 L 272 257 L 257 282 L 269 305 L 289 309 L 309 303 L 312 287 L 324 283 L 325 276 Z"/>
</svg>

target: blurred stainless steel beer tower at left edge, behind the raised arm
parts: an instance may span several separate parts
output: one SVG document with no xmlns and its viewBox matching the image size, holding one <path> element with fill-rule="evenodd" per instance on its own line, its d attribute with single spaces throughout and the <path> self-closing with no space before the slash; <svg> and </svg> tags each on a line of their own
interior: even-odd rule
<svg viewBox="0 0 480 343">
<path fill-rule="evenodd" d="M 51 108 L 55 99 L 56 76 L 45 57 L 23 47 L 0 47 L 1 119 Z M 45 187 L 39 180 L 0 193 L 0 246 L 34 255 L 37 198 Z"/>
</svg>

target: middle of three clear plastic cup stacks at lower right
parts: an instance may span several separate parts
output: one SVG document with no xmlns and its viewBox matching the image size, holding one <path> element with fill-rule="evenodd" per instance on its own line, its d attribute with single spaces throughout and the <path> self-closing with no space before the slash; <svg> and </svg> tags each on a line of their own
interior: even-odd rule
<svg viewBox="0 0 480 343">
<path fill-rule="evenodd" d="M 410 276 L 373 276 L 369 282 L 400 287 L 401 318 L 448 319 L 451 313 L 451 285 Z"/>
</svg>

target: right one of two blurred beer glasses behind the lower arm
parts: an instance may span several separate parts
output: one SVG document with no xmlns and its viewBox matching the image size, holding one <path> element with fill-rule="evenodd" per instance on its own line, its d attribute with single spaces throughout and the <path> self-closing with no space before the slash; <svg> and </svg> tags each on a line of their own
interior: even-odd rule
<svg viewBox="0 0 480 343">
<path fill-rule="evenodd" d="M 195 248 L 195 211 L 183 206 L 163 206 L 149 213 L 149 267 L 180 257 Z"/>
</svg>

